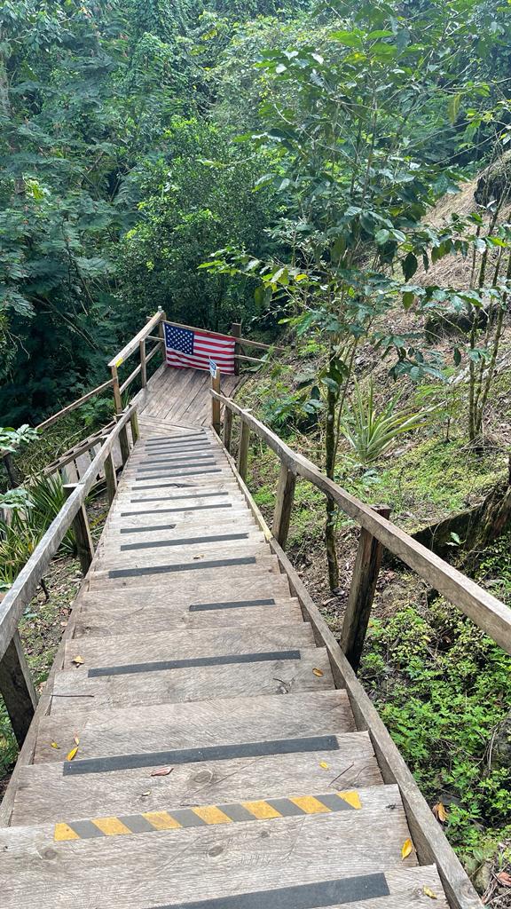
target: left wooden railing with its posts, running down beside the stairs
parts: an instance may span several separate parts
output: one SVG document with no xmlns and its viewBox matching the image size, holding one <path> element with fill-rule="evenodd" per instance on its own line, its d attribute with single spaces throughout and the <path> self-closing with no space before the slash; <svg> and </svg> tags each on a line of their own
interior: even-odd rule
<svg viewBox="0 0 511 909">
<path fill-rule="evenodd" d="M 135 405 L 128 407 L 123 414 L 118 415 L 117 423 L 105 437 L 100 451 L 79 483 L 65 485 L 67 502 L 48 527 L 44 537 L 35 547 L 34 553 L 0 603 L 0 694 L 4 698 L 15 737 L 20 745 L 25 740 L 34 716 L 37 696 L 18 633 L 19 621 L 25 606 L 34 596 L 48 564 L 71 527 L 75 531 L 82 571 L 84 574 L 88 571 L 94 556 L 94 545 L 85 511 L 85 499 L 95 485 L 97 474 L 104 467 L 107 494 L 110 503 L 112 502 L 116 486 L 112 451 L 117 438 L 120 439 L 124 434 L 126 437 L 126 448 L 123 452 L 124 465 L 129 455 L 126 434 L 128 423 L 131 424 L 131 435 L 135 445 L 139 435 Z"/>
</svg>

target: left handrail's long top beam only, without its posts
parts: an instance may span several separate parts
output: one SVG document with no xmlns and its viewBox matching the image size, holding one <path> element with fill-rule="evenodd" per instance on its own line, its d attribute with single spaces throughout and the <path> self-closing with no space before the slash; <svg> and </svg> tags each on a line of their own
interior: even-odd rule
<svg viewBox="0 0 511 909">
<path fill-rule="evenodd" d="M 48 527 L 42 540 L 36 545 L 25 567 L 22 568 L 15 583 L 0 603 L 0 661 L 15 635 L 17 624 L 23 615 L 26 604 L 30 603 L 50 560 L 73 524 L 76 514 L 85 504 L 85 498 L 95 484 L 96 476 L 105 463 L 107 455 L 112 451 L 115 440 L 125 431 L 125 427 L 131 421 L 135 411 L 135 406 L 128 407 L 119 418 L 106 438 L 105 444 L 95 455 L 94 461 L 76 484 L 75 490 Z"/>
</svg>

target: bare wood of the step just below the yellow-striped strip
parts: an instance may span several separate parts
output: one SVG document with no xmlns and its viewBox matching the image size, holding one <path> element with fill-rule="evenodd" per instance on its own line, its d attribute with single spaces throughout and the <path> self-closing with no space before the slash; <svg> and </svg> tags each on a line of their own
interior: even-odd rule
<svg viewBox="0 0 511 909">
<path fill-rule="evenodd" d="M 168 904 L 169 894 L 178 905 L 290 883 L 402 871 L 416 865 L 414 854 L 405 863 L 401 859 L 406 833 L 398 794 L 386 787 L 377 787 L 373 804 L 360 812 L 258 824 L 65 844 L 53 841 L 52 826 L 17 827 L 7 843 L 0 834 L 7 882 L 3 909 L 90 909 L 104 904 L 105 893 L 115 893 L 116 909 L 145 909 Z M 17 873 L 21 866 L 23 875 Z M 424 880 L 421 871 L 418 881 Z"/>
</svg>

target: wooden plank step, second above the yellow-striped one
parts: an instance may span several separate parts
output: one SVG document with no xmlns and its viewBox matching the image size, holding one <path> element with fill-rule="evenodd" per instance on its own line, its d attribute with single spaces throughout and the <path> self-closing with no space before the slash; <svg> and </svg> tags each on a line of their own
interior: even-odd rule
<svg viewBox="0 0 511 909">
<path fill-rule="evenodd" d="M 41 720 L 34 762 L 61 760 L 52 742 L 67 754 L 75 736 L 80 740 L 79 752 L 67 765 L 68 771 L 85 771 L 92 778 L 96 767 L 115 770 L 141 763 L 155 766 L 256 756 L 261 749 L 267 754 L 281 753 L 283 748 L 316 750 L 318 736 L 354 731 L 344 691 L 151 704 L 94 713 L 75 710 Z"/>
</svg>

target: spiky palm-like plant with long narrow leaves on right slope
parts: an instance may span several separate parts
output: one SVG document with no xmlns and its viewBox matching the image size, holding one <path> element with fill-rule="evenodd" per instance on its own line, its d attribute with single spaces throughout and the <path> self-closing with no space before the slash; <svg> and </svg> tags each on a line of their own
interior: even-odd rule
<svg viewBox="0 0 511 909">
<path fill-rule="evenodd" d="M 386 454 L 399 435 L 412 433 L 431 423 L 435 407 L 419 411 L 407 409 L 396 413 L 401 396 L 395 395 L 378 413 L 373 380 L 371 379 L 367 391 L 356 383 L 351 403 L 341 419 L 340 430 L 356 452 L 362 466 L 374 464 L 378 458 Z"/>
</svg>

